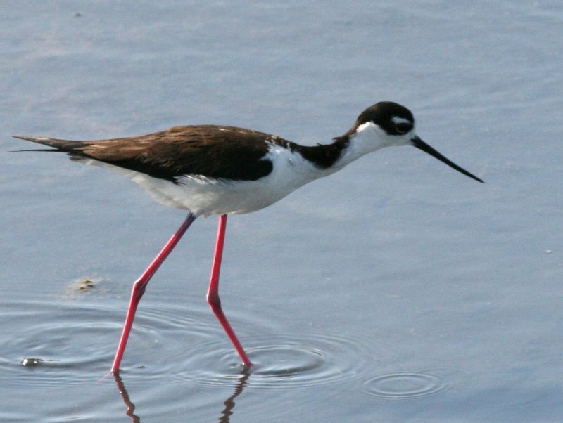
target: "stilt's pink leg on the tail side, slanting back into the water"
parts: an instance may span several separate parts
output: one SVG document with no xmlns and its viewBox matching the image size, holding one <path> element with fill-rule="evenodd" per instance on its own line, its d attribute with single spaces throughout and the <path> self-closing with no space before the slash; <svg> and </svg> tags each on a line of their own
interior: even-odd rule
<svg viewBox="0 0 563 423">
<path fill-rule="evenodd" d="M 170 254 L 172 249 L 176 247 L 176 244 L 178 243 L 180 238 L 182 238 L 182 235 L 184 235 L 184 233 L 186 232 L 186 230 L 188 230 L 189 226 L 194 220 L 196 220 L 196 217 L 193 214 L 189 213 L 184 223 L 182 223 L 182 226 L 178 228 L 176 233 L 172 235 L 163 249 L 160 250 L 151 265 L 148 266 L 141 277 L 134 282 L 133 291 L 131 293 L 131 301 L 129 301 L 129 308 L 127 309 L 127 316 L 125 317 L 125 325 L 123 325 L 123 332 L 119 341 L 118 351 L 115 353 L 113 365 L 111 366 L 112 372 L 118 372 L 119 370 L 121 359 L 123 357 L 123 353 L 125 352 L 125 346 L 127 346 L 127 339 L 129 339 L 129 332 L 131 332 L 133 319 L 135 318 L 135 311 L 137 311 L 137 306 L 139 305 L 141 297 L 143 297 L 148 281 L 151 280 L 153 275 L 156 273 L 160 265 L 165 261 L 166 257 L 168 256 L 168 254 Z"/>
</svg>

